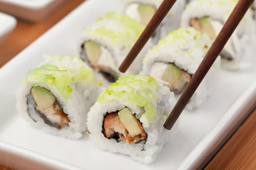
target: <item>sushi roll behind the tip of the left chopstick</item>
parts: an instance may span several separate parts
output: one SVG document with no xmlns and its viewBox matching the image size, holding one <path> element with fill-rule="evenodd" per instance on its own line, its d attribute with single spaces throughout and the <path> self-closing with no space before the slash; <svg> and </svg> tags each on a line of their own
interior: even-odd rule
<svg viewBox="0 0 256 170">
<path fill-rule="evenodd" d="M 115 82 L 123 75 L 118 67 L 144 29 L 145 25 L 126 15 L 107 13 L 84 31 L 79 44 L 80 58 L 98 71 L 104 80 Z M 152 45 L 149 40 L 127 74 L 139 73 L 143 57 Z"/>
</svg>

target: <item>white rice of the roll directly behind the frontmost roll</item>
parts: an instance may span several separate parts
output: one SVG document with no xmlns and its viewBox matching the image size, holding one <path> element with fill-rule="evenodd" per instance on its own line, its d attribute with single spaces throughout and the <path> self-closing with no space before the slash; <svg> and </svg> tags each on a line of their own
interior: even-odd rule
<svg viewBox="0 0 256 170">
<path fill-rule="evenodd" d="M 211 44 L 211 40 L 206 34 L 201 35 L 199 31 L 196 31 L 192 27 L 187 29 L 179 28 L 160 40 L 159 44 L 154 46 L 146 54 L 143 60 L 143 69 L 140 74 L 149 75 L 150 72 L 159 71 L 151 70 L 156 63 L 172 63 L 179 69 L 193 75 Z M 205 46 L 207 46 L 207 48 L 205 48 Z M 218 77 L 219 68 L 220 57 L 217 58 L 212 68 L 197 88 L 190 102 L 187 104 L 186 109 L 193 110 L 199 107 L 213 92 L 214 81 Z M 162 73 L 159 73 L 159 75 L 162 75 Z M 176 99 L 179 99 L 180 95 L 181 94 L 175 95 Z"/>
</svg>

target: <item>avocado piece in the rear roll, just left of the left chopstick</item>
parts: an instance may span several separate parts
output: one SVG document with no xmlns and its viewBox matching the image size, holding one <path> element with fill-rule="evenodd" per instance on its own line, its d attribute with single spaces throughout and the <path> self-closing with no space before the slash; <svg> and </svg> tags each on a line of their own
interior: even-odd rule
<svg viewBox="0 0 256 170">
<path fill-rule="evenodd" d="M 156 8 L 151 5 L 140 5 L 138 10 L 141 15 L 142 23 L 145 25 L 148 24 L 148 22 L 156 13 Z"/>
</svg>

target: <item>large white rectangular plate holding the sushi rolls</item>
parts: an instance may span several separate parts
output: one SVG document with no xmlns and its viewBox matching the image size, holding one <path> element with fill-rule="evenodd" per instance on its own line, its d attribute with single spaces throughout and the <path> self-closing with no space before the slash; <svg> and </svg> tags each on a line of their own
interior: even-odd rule
<svg viewBox="0 0 256 170">
<path fill-rule="evenodd" d="M 43 54 L 76 55 L 84 28 L 118 5 L 119 0 L 87 0 L 0 69 L 0 155 L 8 155 L 0 156 L 0 164 L 16 169 L 195 169 L 246 116 L 255 102 L 255 68 L 221 71 L 213 95 L 196 111 L 181 114 L 172 139 L 150 165 L 97 149 L 88 135 L 73 141 L 32 128 L 15 109 L 20 80 L 43 61 Z"/>
</svg>

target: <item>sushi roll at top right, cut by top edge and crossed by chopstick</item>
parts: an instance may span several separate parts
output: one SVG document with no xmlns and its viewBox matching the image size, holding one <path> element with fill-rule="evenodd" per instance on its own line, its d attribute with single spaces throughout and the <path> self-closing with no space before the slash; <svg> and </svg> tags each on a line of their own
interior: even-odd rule
<svg viewBox="0 0 256 170">
<path fill-rule="evenodd" d="M 191 1 L 182 13 L 181 26 L 192 26 L 214 41 L 237 2 L 238 0 Z M 252 11 L 248 10 L 220 53 L 223 69 L 237 70 L 248 66 L 254 53 L 252 44 L 255 44 L 255 30 Z"/>
</svg>

